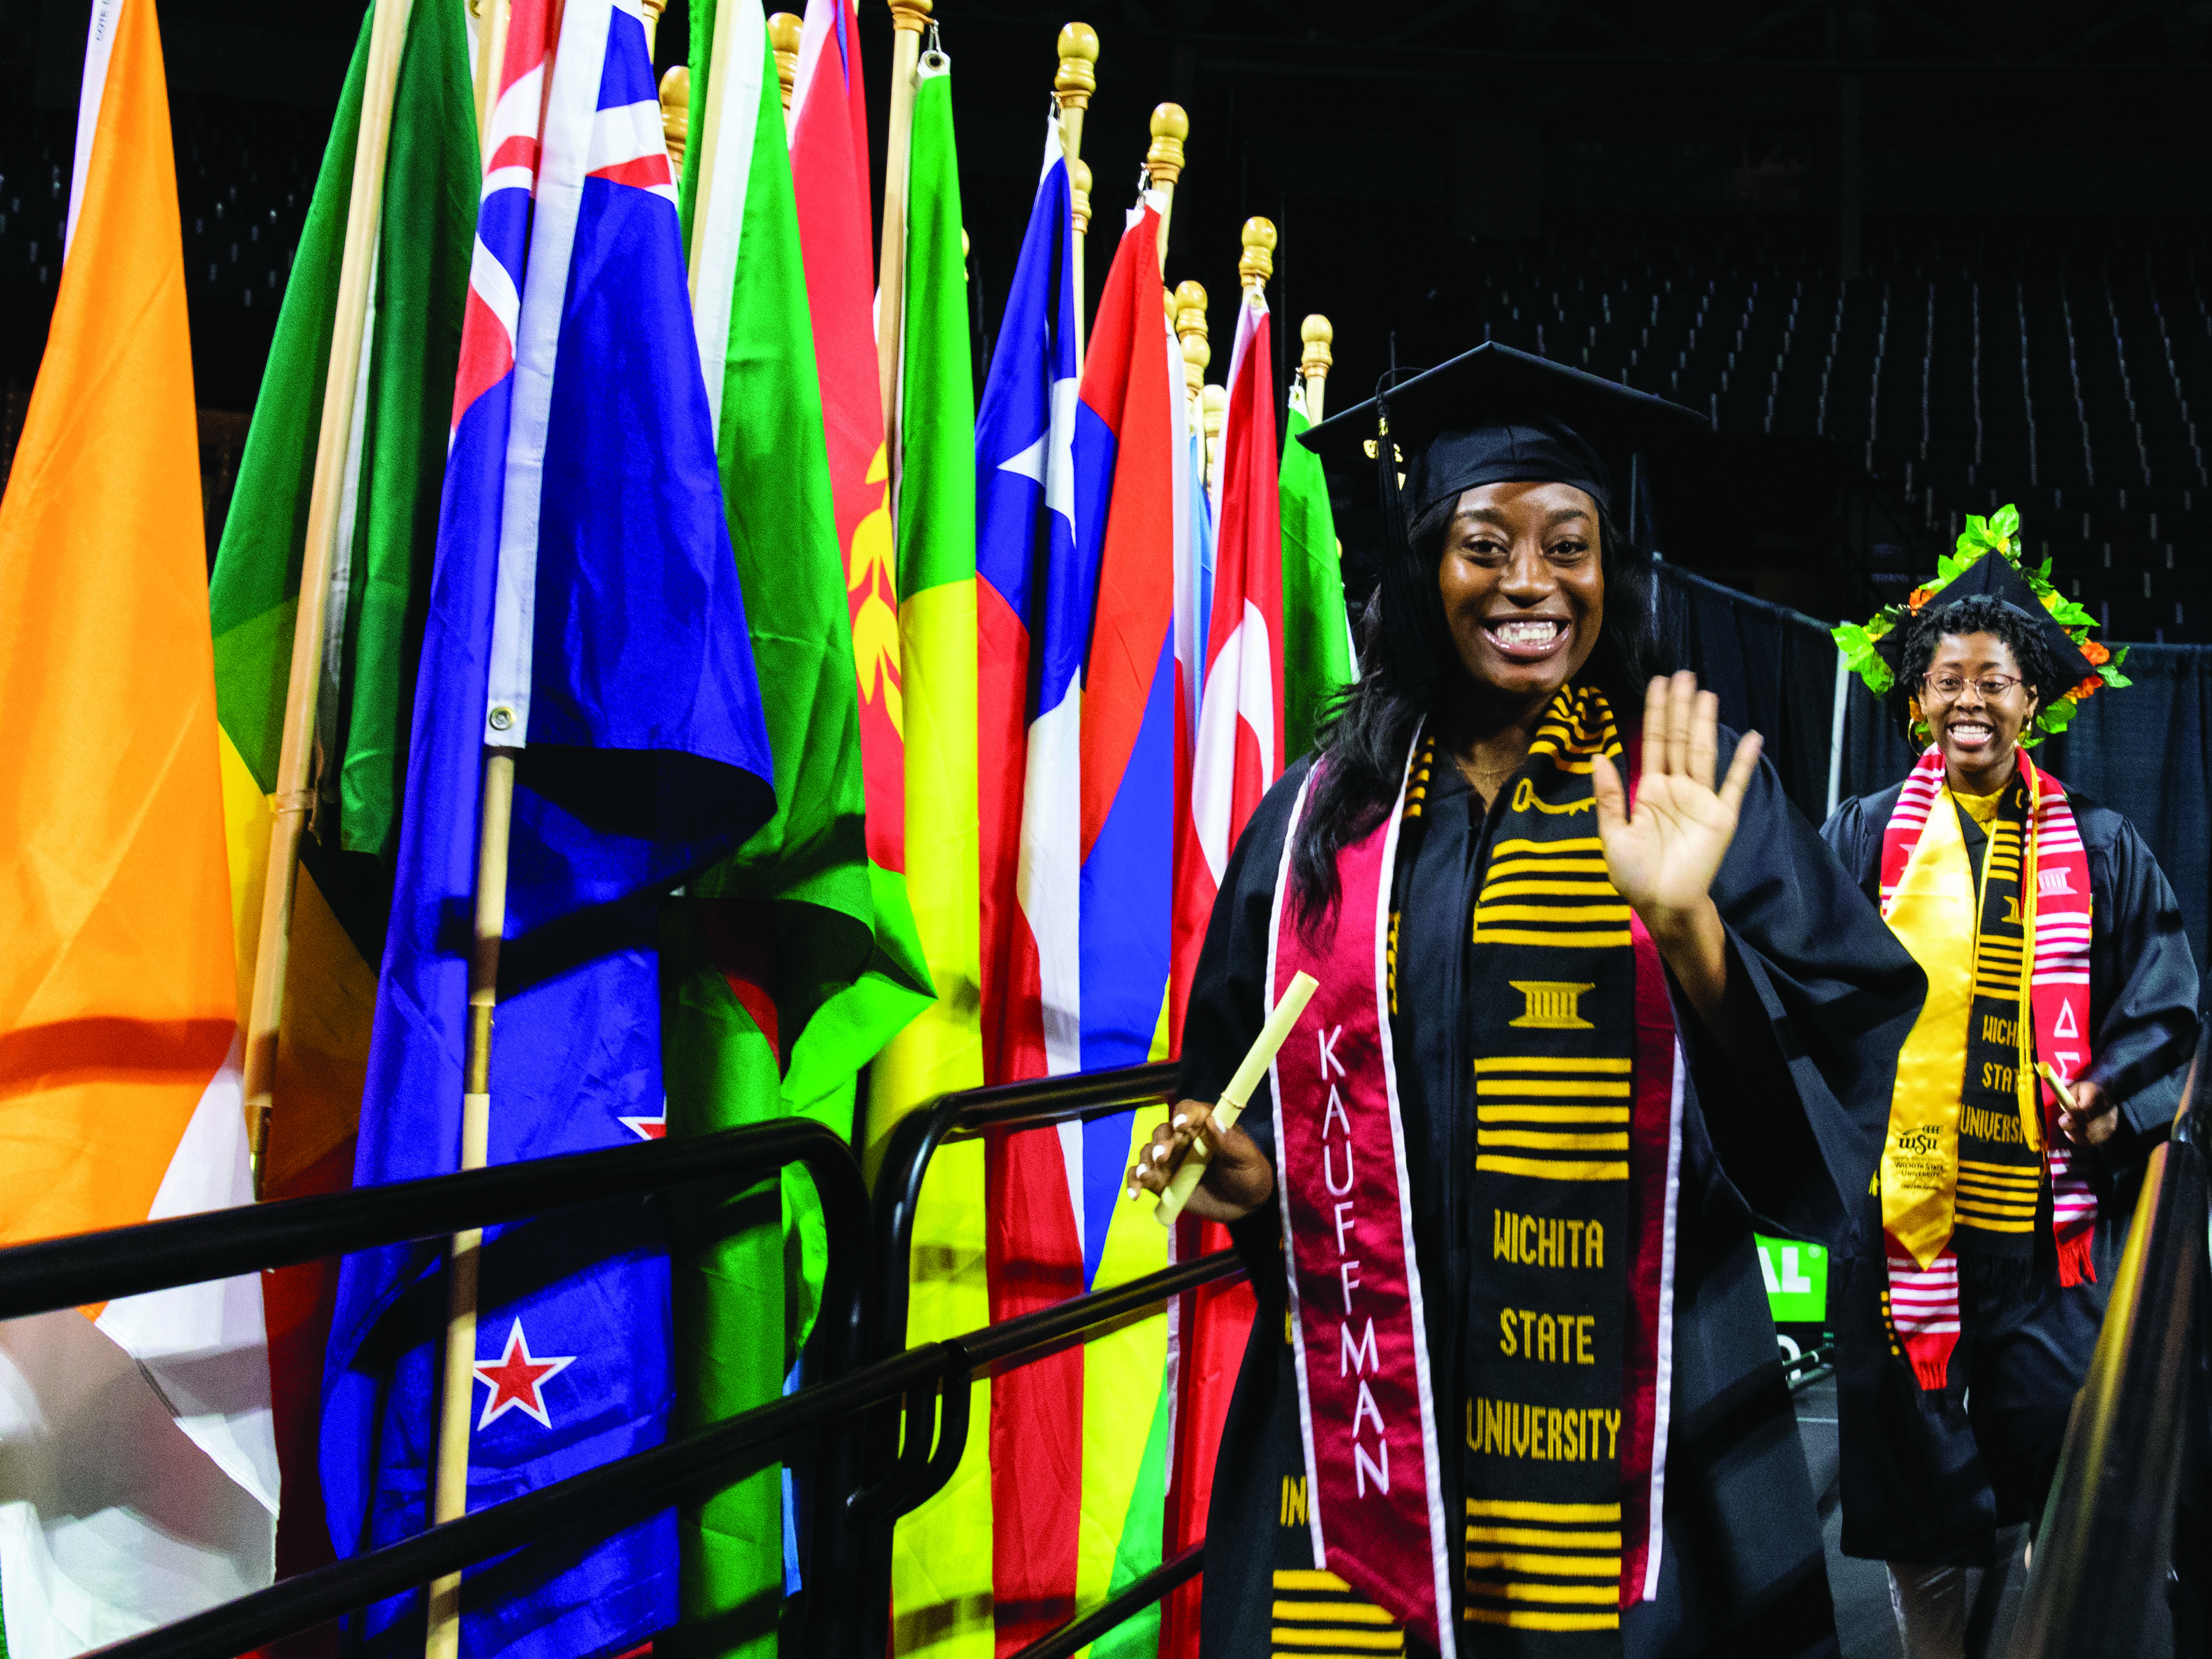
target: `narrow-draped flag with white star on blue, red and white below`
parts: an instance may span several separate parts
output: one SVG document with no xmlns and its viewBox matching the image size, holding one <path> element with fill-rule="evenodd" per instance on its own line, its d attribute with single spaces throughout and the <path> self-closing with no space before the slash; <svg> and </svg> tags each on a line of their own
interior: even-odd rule
<svg viewBox="0 0 2212 1659">
<path fill-rule="evenodd" d="M 1075 228 L 1057 115 L 975 411 L 984 1079 L 1082 1066 L 1082 670 L 1097 544 L 1075 540 Z M 1079 1124 L 991 1135 L 991 1318 L 1084 1294 Z M 1084 1356 L 991 1385 L 998 1644 L 1075 1610 Z"/>
</svg>

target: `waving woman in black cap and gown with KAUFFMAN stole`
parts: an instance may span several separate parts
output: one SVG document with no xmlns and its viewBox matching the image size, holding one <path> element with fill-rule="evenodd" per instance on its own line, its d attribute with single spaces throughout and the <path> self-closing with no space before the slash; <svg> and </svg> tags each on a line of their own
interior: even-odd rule
<svg viewBox="0 0 2212 1659">
<path fill-rule="evenodd" d="M 1130 1172 L 1161 1190 L 1203 1135 L 1192 1210 L 1232 1223 L 1259 1294 L 1214 1471 L 1203 1652 L 1834 1652 L 1752 1230 L 1847 1248 L 1920 975 L 1759 739 L 1717 730 L 1688 675 L 1646 679 L 1650 562 L 1617 533 L 1599 456 L 1701 418 L 1495 345 L 1385 403 L 1310 436 L 1349 447 L 1380 427 L 1407 467 L 1400 502 L 1378 465 L 1363 675 L 1237 843 L 1183 1029 L 1186 1099 Z M 1637 757 L 1615 734 L 1639 708 L 1626 816 Z M 1360 911 L 1367 891 L 1387 891 L 1387 922 Z M 1387 951 L 1369 945 L 1385 927 Z M 1387 958 L 1389 1075 L 1360 1095 L 1360 1062 L 1347 1075 L 1329 1046 L 1358 1022 L 1369 949 Z M 1223 1135 L 1212 1102 L 1301 953 L 1316 1006 L 1340 998 L 1318 1079 L 1301 1022 L 1283 1099 L 1263 1082 Z M 1385 1296 L 1380 1343 L 1354 1298 L 1391 1228 L 1349 1245 L 1363 1265 L 1354 1199 L 1327 1197 L 1354 1186 L 1363 1110 L 1389 1113 L 1398 1175 L 1385 1139 L 1356 1201 L 1396 1203 L 1411 1239 L 1411 1294 Z M 1318 1161 L 1285 1161 L 1279 1137 L 1316 1133 Z M 1334 1133 L 1354 1137 L 1340 1170 Z M 1626 1159 L 1555 1150 L 1621 1144 Z M 1398 1307 L 1427 1422 L 1420 1447 L 1396 1442 L 1394 1486 L 1371 1440 L 1407 1433 L 1383 1400 L 1405 1380 Z M 1376 1482 L 1405 1493 L 1422 1471 L 1427 1526 L 1418 1495 L 1374 1509 Z"/>
</svg>

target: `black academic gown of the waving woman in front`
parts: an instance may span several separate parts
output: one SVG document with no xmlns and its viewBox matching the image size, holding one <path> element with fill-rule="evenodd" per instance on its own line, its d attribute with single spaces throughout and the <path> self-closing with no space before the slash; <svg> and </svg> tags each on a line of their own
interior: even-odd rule
<svg viewBox="0 0 2212 1659">
<path fill-rule="evenodd" d="M 1721 768 L 1734 734 L 1721 734 Z M 1212 1099 L 1261 1026 L 1267 918 L 1283 834 L 1307 763 L 1294 765 L 1237 843 L 1199 958 L 1183 1026 L 1183 1093 Z M 1464 991 L 1475 891 L 1495 814 L 1458 768 L 1436 768 L 1418 858 L 1398 872 L 1394 1042 L 1411 1175 L 1413 1248 L 1429 1314 L 1444 1515 L 1460 1502 L 1460 1325 L 1484 1250 L 1471 1237 L 1473 1053 Z M 1920 1011 L 1922 975 L 1843 878 L 1761 761 L 1714 883 L 1728 925 L 1730 993 L 1759 1035 L 1717 1053 L 1681 1013 L 1683 1104 L 1674 1270 L 1674 1383 L 1659 1599 L 1624 1617 L 1646 1655 L 1823 1655 L 1836 1650 L 1820 1522 L 1774 1323 L 1752 1245 L 1774 1232 L 1849 1250 L 1889 1113 L 1896 1053 Z M 1369 925 L 1365 918 L 1356 925 Z M 1686 1004 L 1677 1004 L 1686 1009 Z M 1274 1155 L 1265 1082 L 1243 1126 Z M 1312 1566 L 1285 1478 L 1303 1473 L 1285 1340 L 1281 1210 L 1239 1223 L 1259 1316 L 1214 1464 L 1206 1528 L 1206 1659 L 1272 1652 L 1272 1575 Z M 1290 1517 L 1290 1524 L 1285 1524 Z M 1458 1577 L 1458 1575 L 1453 1575 Z M 1458 1610 L 1453 1610 L 1458 1624 Z M 1460 1624 L 1464 1632 L 1467 1626 Z M 1290 1648 L 1285 1648 L 1287 1652 Z M 1462 1635 L 1462 1652 L 1480 1652 Z"/>
</svg>

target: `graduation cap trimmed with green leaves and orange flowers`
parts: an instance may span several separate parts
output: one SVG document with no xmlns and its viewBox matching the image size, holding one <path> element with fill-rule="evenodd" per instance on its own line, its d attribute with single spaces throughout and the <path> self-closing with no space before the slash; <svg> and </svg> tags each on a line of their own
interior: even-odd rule
<svg viewBox="0 0 2212 1659">
<path fill-rule="evenodd" d="M 1849 668 L 1867 681 L 1867 690 L 1887 697 L 1896 686 L 1898 657 L 1905 648 L 1905 624 L 1927 606 L 1953 604 L 1986 593 L 2037 624 L 2057 681 L 2068 690 L 2046 695 L 2035 710 L 2035 732 L 2022 734 L 2022 745 L 2035 745 L 2046 732 L 2064 732 L 2086 697 L 2106 686 L 2126 686 L 2119 672 L 2128 648 L 2106 650 L 2090 639 L 2097 619 L 2051 584 L 2048 555 L 2028 564 L 2020 542 L 2020 509 L 2000 507 L 1986 520 L 1966 515 L 1958 551 L 1936 562 L 1936 580 L 1907 595 L 1905 604 L 1885 604 L 1867 622 L 1845 622 L 1834 628 L 1836 646 Z"/>
</svg>

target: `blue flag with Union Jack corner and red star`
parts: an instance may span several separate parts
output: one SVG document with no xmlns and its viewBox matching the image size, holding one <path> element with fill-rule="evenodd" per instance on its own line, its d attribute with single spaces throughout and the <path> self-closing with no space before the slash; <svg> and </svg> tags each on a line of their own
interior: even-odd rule
<svg viewBox="0 0 2212 1659">
<path fill-rule="evenodd" d="M 637 0 L 518 0 L 487 137 L 361 1183 L 460 1164 L 487 748 L 515 752 L 493 1164 L 653 1133 L 659 900 L 774 805 Z M 341 1270 L 323 1484 L 345 1555 L 429 1524 L 445 1259 Z M 469 1509 L 657 1444 L 668 1349 L 659 1203 L 487 1232 Z M 672 1513 L 476 1568 L 460 1613 L 462 1655 L 637 1646 L 677 1615 Z M 422 1593 L 358 1635 L 420 1652 Z"/>
</svg>

